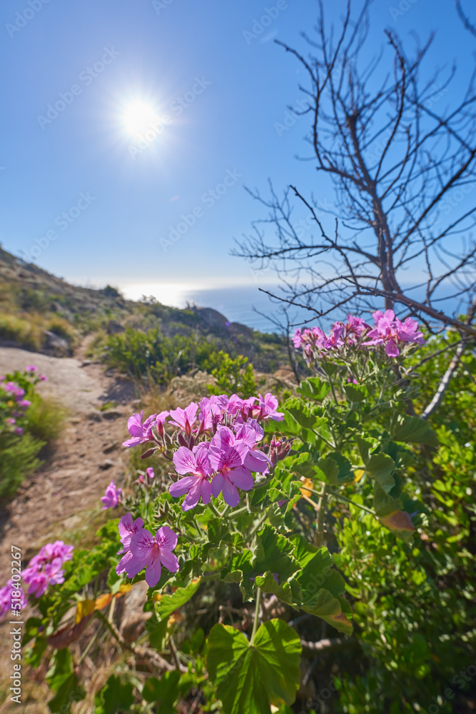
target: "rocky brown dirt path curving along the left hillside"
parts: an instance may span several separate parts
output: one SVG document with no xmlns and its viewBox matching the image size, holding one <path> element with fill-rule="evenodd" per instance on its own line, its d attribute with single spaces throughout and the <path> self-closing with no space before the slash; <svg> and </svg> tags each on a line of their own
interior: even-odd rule
<svg viewBox="0 0 476 714">
<path fill-rule="evenodd" d="M 81 526 L 79 514 L 99 512 L 111 478 L 121 483 L 126 465 L 121 442 L 135 398 L 128 381 L 104 373 L 101 365 L 0 348 L 1 374 L 29 364 L 48 378 L 39 391 L 61 402 L 69 416 L 49 461 L 0 511 L 1 585 L 9 577 L 12 543 L 29 558 L 47 540 Z M 101 411 L 111 402 L 117 406 Z"/>
</svg>

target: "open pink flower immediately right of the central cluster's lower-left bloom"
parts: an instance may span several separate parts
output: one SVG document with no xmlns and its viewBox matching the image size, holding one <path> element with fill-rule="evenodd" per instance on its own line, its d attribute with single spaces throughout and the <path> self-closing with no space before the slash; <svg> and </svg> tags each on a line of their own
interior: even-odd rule
<svg viewBox="0 0 476 714">
<path fill-rule="evenodd" d="M 211 492 L 218 498 L 223 491 L 223 498 L 228 506 L 237 506 L 240 501 L 237 486 L 243 491 L 253 488 L 253 475 L 249 468 L 243 466 L 243 458 L 248 451 L 248 446 L 243 441 L 223 449 L 217 446 L 210 446 L 208 449 L 210 465 L 213 471 L 217 472 L 211 482 Z"/>
</svg>

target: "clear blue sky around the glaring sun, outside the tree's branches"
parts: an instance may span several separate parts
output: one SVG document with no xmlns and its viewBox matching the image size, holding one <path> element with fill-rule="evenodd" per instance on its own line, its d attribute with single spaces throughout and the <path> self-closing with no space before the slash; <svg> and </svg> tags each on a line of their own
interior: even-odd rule
<svg viewBox="0 0 476 714">
<path fill-rule="evenodd" d="M 344 8 L 325 5 L 330 20 Z M 270 282 L 229 254 L 260 216 L 243 185 L 265 192 L 270 177 L 278 190 L 295 182 L 333 200 L 313 165 L 295 160 L 307 120 L 275 126 L 305 78 L 273 39 L 302 49 L 316 9 L 313 0 L 2 4 L 4 247 L 74 283 L 146 293 Z M 457 57 L 465 79 L 474 38 L 452 2 L 378 0 L 371 18 L 375 46 L 386 26 L 404 40 L 437 31 L 430 66 Z M 141 144 L 124 122 L 137 102 L 163 120 Z"/>
</svg>

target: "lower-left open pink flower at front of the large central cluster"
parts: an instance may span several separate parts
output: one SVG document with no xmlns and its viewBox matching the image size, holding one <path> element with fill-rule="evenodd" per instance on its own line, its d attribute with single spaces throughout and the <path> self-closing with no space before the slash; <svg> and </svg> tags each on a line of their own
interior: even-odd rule
<svg viewBox="0 0 476 714">
<path fill-rule="evenodd" d="M 186 446 L 181 446 L 173 454 L 173 466 L 180 474 L 190 473 L 191 476 L 181 478 L 168 489 L 174 498 L 187 494 L 182 504 L 183 511 L 194 508 L 198 501 L 210 503 L 211 484 L 208 476 L 212 473 L 210 461 L 208 461 L 208 449 L 201 443 L 190 451 Z"/>
</svg>

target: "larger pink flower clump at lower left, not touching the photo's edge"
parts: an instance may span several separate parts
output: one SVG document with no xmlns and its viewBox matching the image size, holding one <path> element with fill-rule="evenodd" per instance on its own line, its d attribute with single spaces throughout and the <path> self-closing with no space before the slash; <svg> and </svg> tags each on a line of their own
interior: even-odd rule
<svg viewBox="0 0 476 714">
<path fill-rule="evenodd" d="M 64 583 L 63 565 L 73 557 L 73 545 L 65 545 L 62 540 L 47 543 L 38 555 L 31 558 L 22 575 L 29 585 L 28 594 L 41 598 L 49 585 Z"/>
</svg>

